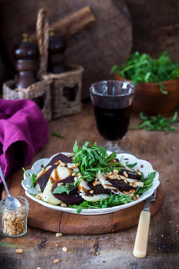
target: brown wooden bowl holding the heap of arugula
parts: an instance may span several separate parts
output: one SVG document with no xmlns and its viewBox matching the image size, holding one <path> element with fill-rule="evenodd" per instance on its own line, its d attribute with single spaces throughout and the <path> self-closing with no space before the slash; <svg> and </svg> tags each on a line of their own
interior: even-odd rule
<svg viewBox="0 0 179 269">
<path fill-rule="evenodd" d="M 117 74 L 116 80 L 129 81 Z M 148 115 L 169 115 L 179 104 L 179 78 L 163 81 L 162 84 L 167 88 L 168 94 L 160 92 L 157 82 L 138 83 L 133 102 L 133 112 L 146 112 Z"/>
</svg>

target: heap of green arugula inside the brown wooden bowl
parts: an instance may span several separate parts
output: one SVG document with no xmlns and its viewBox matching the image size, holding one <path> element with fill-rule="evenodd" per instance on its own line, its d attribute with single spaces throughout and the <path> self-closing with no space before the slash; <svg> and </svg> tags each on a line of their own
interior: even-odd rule
<svg viewBox="0 0 179 269">
<path fill-rule="evenodd" d="M 158 82 L 160 91 L 167 94 L 168 92 L 162 81 L 179 77 L 179 62 L 172 62 L 167 56 L 167 51 L 163 52 L 158 59 L 136 51 L 129 55 L 121 68 L 114 65 L 110 73 L 116 73 L 125 79 L 132 80 L 135 85 L 142 82 Z"/>
</svg>

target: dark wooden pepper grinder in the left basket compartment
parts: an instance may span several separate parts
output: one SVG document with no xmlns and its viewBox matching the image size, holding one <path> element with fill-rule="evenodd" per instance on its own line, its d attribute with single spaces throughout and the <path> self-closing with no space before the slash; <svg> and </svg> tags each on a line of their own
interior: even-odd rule
<svg viewBox="0 0 179 269">
<path fill-rule="evenodd" d="M 38 47 L 29 42 L 29 35 L 22 34 L 22 41 L 13 49 L 15 59 L 15 88 L 27 88 L 37 82 L 36 72 L 38 68 Z"/>
</svg>

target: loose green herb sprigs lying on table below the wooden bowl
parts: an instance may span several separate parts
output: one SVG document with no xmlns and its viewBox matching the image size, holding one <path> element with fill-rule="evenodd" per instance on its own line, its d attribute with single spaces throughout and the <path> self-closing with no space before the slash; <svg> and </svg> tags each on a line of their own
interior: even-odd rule
<svg viewBox="0 0 179 269">
<path fill-rule="evenodd" d="M 178 122 L 177 120 L 178 112 L 176 111 L 173 118 L 168 120 L 167 118 L 161 116 L 158 114 L 157 117 L 155 116 L 146 116 L 143 114 L 143 112 L 140 113 L 140 118 L 142 122 L 138 124 L 137 126 L 130 126 L 130 129 L 143 129 L 145 128 L 146 131 L 165 131 L 169 132 L 170 130 L 174 133 L 177 132 L 177 130 L 171 126 L 173 123 Z"/>
</svg>

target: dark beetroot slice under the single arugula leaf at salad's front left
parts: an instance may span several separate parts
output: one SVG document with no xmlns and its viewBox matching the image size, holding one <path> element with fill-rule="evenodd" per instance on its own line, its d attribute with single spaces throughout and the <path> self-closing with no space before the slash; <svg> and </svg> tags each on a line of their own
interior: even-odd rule
<svg viewBox="0 0 179 269">
<path fill-rule="evenodd" d="M 66 183 L 68 183 L 68 184 L 73 183 L 74 176 L 68 176 L 67 178 L 62 179 L 59 182 L 63 183 L 64 186 L 66 185 Z M 56 185 L 52 188 L 52 192 L 57 187 L 59 182 L 57 182 Z M 53 196 L 66 204 L 73 205 L 73 204 L 82 202 L 83 198 L 79 195 L 78 190 L 75 189 L 75 186 L 70 186 L 69 189 L 71 190 L 71 192 L 69 194 L 67 194 L 66 192 L 63 192 L 60 194 L 54 193 Z"/>
</svg>

